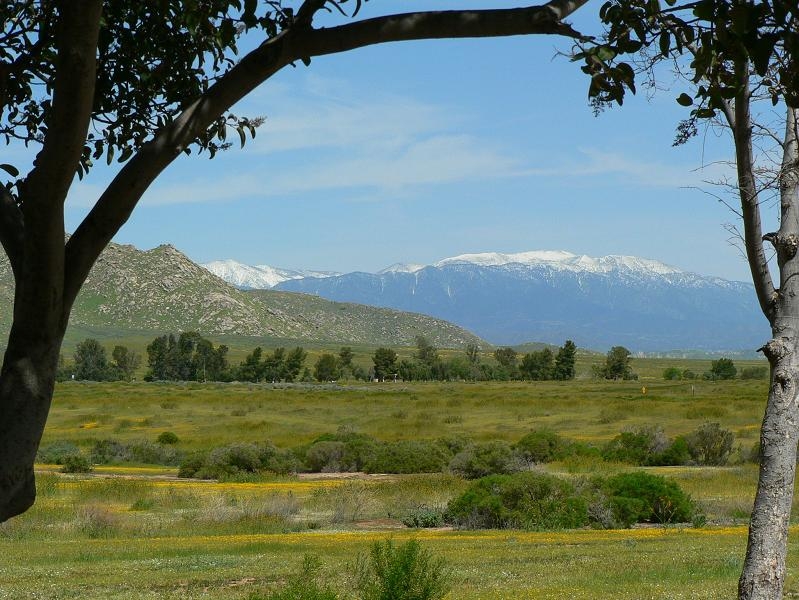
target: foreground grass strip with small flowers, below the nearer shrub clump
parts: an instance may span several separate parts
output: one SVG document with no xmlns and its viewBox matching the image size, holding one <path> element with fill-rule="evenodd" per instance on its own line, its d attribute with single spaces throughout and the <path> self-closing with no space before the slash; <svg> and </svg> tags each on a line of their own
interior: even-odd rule
<svg viewBox="0 0 799 600">
<path fill-rule="evenodd" d="M 794 537 L 796 533 L 792 532 Z M 645 529 L 565 533 L 395 532 L 420 540 L 453 569 L 451 598 L 730 598 L 746 532 Z M 321 557 L 340 590 L 354 557 L 384 532 L 240 534 L 47 544 L 0 540 L 2 597 L 246 598 L 278 585 L 303 554 Z M 791 544 L 789 562 L 799 558 Z M 795 589 L 790 579 L 788 589 Z"/>
</svg>

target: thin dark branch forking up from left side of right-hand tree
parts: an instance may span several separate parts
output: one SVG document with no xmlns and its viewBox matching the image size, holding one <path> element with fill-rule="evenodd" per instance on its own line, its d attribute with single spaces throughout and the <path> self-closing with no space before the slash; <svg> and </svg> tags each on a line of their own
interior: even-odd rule
<svg viewBox="0 0 799 600">
<path fill-rule="evenodd" d="M 741 69 L 744 81 L 741 91 L 735 98 L 735 114 L 732 132 L 735 137 L 735 158 L 738 171 L 738 190 L 741 197 L 741 213 L 744 224 L 744 241 L 752 282 L 757 292 L 760 308 L 769 322 L 775 313 L 776 290 L 768 268 L 768 259 L 763 249 L 763 231 L 760 221 L 760 207 L 757 202 L 757 189 L 754 179 L 754 158 L 752 153 L 752 117 L 750 114 L 749 64 L 738 61 L 736 69 Z"/>
</svg>

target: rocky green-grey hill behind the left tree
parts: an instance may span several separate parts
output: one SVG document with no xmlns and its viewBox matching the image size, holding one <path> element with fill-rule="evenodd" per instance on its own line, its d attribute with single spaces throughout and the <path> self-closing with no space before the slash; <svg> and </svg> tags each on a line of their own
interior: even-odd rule
<svg viewBox="0 0 799 600">
<path fill-rule="evenodd" d="M 6 307 L 0 310 L 0 345 L 8 334 L 13 298 L 10 265 L 0 250 L 0 303 Z M 68 336 L 167 331 L 353 345 L 412 346 L 420 334 L 444 348 L 482 342 L 426 315 L 285 291 L 243 291 L 169 245 L 141 251 L 110 244 L 78 296 Z"/>
</svg>

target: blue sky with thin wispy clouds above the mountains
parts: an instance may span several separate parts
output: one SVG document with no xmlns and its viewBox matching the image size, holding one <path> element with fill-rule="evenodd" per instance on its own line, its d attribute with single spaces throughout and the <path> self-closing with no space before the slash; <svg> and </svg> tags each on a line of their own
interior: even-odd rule
<svg viewBox="0 0 799 600">
<path fill-rule="evenodd" d="M 372 0 L 364 16 L 396 6 Z M 596 30 L 598 6 L 572 21 Z M 559 55 L 569 48 L 548 36 L 407 42 L 288 67 L 234 108 L 266 117 L 256 139 L 178 158 L 114 241 L 341 272 L 566 250 L 747 280 L 727 227 L 737 218 L 703 183 L 727 172 L 729 140 L 711 131 L 672 147 L 686 116 L 677 88 L 594 116 L 587 77 Z M 68 230 L 113 174 L 76 182 Z"/>
</svg>

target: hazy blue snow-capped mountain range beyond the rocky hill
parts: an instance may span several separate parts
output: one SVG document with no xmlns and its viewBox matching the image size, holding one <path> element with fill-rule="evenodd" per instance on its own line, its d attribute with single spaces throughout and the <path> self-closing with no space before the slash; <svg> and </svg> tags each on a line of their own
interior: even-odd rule
<svg viewBox="0 0 799 600">
<path fill-rule="evenodd" d="M 245 265 L 226 264 L 237 285 L 267 287 L 245 279 Z M 758 348 L 769 337 L 750 284 L 633 256 L 464 254 L 377 273 L 286 276 L 269 287 L 428 314 L 494 344 L 569 338 L 587 348 L 712 352 Z"/>
</svg>

